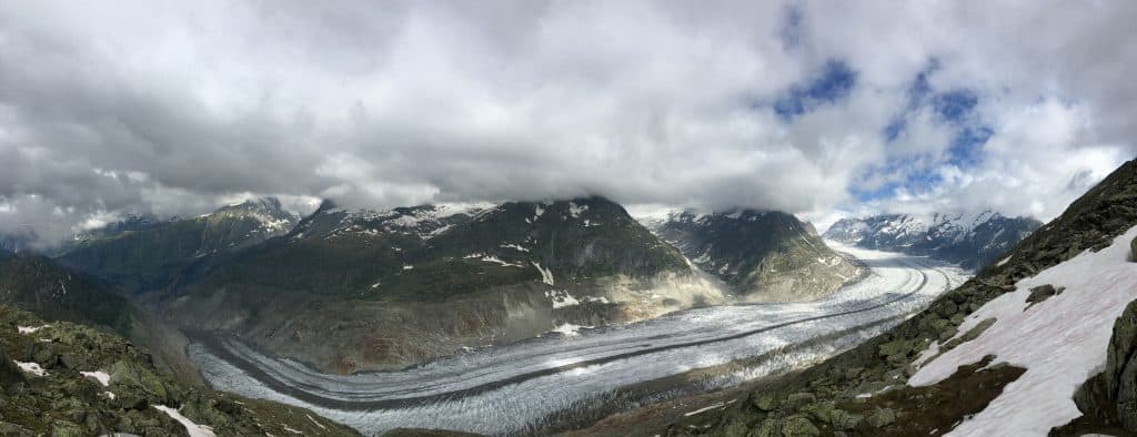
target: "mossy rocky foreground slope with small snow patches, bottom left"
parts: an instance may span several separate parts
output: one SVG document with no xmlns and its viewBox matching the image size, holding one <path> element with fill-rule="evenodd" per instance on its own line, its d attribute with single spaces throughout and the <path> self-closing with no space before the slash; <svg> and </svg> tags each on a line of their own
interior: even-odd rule
<svg viewBox="0 0 1137 437">
<path fill-rule="evenodd" d="M 0 355 L 6 436 L 358 435 L 302 409 L 176 383 L 118 336 L 6 304 Z"/>
</svg>

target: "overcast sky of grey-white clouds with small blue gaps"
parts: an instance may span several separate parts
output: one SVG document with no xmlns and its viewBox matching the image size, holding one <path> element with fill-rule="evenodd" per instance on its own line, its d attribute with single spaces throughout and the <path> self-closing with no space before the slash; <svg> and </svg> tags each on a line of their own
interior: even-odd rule
<svg viewBox="0 0 1137 437">
<path fill-rule="evenodd" d="M 1134 23 L 1122 0 L 5 1 L 0 233 L 267 194 L 1048 220 L 1137 154 Z"/>
</svg>

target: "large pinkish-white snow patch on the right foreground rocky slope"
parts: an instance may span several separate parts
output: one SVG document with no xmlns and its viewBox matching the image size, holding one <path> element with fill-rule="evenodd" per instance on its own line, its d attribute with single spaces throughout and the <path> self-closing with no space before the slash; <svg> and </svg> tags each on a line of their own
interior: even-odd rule
<svg viewBox="0 0 1137 437">
<path fill-rule="evenodd" d="M 971 314 L 960 333 L 996 318 L 978 338 L 924 364 L 908 384 L 944 380 L 963 364 L 985 355 L 1027 372 L 1003 388 L 987 409 L 956 427 L 952 436 L 1045 436 L 1051 428 L 1081 415 L 1073 394 L 1105 367 L 1113 322 L 1137 300 L 1137 262 L 1127 261 L 1137 227 L 1097 253 L 1082 252 L 1061 264 L 1020 280 L 1015 291 Z M 1027 308 L 1030 288 L 1065 287 L 1062 294 Z"/>
</svg>

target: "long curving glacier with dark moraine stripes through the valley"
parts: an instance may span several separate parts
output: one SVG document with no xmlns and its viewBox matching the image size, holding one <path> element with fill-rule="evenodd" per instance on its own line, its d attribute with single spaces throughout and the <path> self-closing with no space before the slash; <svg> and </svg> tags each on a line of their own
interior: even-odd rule
<svg viewBox="0 0 1137 437">
<path fill-rule="evenodd" d="M 715 388 L 814 362 L 966 278 L 927 258 L 835 246 L 864 260 L 872 274 L 824 300 L 702 308 L 572 329 L 575 335 L 471 350 L 404 371 L 325 375 L 233 341 L 223 343 L 224 351 L 194 343 L 190 354 L 214 387 L 305 406 L 366 435 L 396 427 L 506 434 L 565 409 L 600 404 L 620 387 L 694 369 L 764 355 L 706 387 Z M 804 345 L 819 337 L 824 345 Z"/>
</svg>

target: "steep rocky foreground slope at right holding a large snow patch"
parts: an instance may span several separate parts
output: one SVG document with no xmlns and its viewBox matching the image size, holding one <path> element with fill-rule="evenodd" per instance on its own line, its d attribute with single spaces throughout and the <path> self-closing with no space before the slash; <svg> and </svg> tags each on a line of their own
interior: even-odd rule
<svg viewBox="0 0 1137 437">
<path fill-rule="evenodd" d="M 1130 161 L 928 310 L 666 434 L 1135 432 L 1135 226 Z"/>
</svg>

